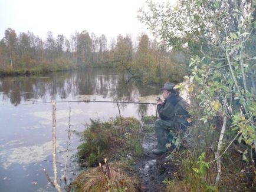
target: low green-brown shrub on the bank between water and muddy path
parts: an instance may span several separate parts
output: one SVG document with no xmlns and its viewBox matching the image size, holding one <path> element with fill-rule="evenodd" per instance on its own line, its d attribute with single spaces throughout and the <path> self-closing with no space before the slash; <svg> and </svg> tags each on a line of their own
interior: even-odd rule
<svg viewBox="0 0 256 192">
<path fill-rule="evenodd" d="M 135 118 L 120 118 L 113 121 L 100 122 L 91 120 L 90 126 L 81 134 L 78 147 L 78 158 L 82 165 L 98 165 L 103 158 L 119 159 L 122 155 L 142 155 L 140 122 Z"/>
</svg>

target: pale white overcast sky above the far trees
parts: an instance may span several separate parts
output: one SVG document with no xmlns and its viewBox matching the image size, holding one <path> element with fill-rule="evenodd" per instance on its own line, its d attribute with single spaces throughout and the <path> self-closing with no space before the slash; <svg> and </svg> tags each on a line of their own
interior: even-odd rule
<svg viewBox="0 0 256 192">
<path fill-rule="evenodd" d="M 153 0 L 157 1 L 157 0 Z M 159 2 L 168 0 L 159 0 Z M 176 0 L 169 0 L 175 2 Z M 0 0 L 0 39 L 7 28 L 33 32 L 45 38 L 47 31 L 54 37 L 87 30 L 107 39 L 130 34 L 137 37 L 149 32 L 137 16 L 146 0 Z"/>
</svg>

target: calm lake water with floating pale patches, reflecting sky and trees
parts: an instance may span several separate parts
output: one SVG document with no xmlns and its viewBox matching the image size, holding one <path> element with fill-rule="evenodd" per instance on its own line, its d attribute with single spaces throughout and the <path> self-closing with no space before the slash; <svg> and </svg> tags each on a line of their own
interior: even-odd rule
<svg viewBox="0 0 256 192">
<path fill-rule="evenodd" d="M 42 171 L 45 168 L 52 178 L 52 105 L 42 102 L 155 102 L 158 95 L 159 87 L 136 84 L 129 74 L 109 68 L 0 78 L 0 191 L 55 191 Z M 123 117 L 156 114 L 156 105 L 119 105 Z M 56 107 L 57 168 L 61 178 L 67 155 L 69 108 L 71 129 L 76 131 L 83 131 L 90 119 L 109 120 L 119 111 L 115 103 L 100 102 L 61 102 Z M 73 134 L 70 141 L 71 154 L 75 154 L 79 138 Z M 70 183 L 79 166 L 72 155 L 67 165 Z"/>
</svg>

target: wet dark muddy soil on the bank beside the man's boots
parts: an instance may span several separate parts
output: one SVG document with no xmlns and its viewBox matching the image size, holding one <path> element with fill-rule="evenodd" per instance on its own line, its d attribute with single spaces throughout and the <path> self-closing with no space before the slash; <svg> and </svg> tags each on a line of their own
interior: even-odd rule
<svg viewBox="0 0 256 192">
<path fill-rule="evenodd" d="M 166 160 L 167 154 L 154 155 L 156 148 L 155 134 L 146 134 L 143 140 L 144 157 L 137 162 L 133 174 L 141 179 L 143 191 L 164 191 L 163 180 L 172 179 L 176 168 Z"/>
</svg>

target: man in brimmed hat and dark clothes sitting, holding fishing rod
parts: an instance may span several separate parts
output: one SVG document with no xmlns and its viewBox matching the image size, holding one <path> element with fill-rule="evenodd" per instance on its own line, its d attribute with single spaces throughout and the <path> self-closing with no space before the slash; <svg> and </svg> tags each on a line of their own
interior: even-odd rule
<svg viewBox="0 0 256 192">
<path fill-rule="evenodd" d="M 174 90 L 175 84 L 166 82 L 162 91 L 164 100 L 157 100 L 157 112 L 159 119 L 155 122 L 155 133 L 157 137 L 157 148 L 153 154 L 160 155 L 168 152 L 166 133 L 169 130 L 178 132 L 185 129 L 191 122 L 189 118 L 188 103 L 179 96 L 179 91 Z"/>
</svg>

